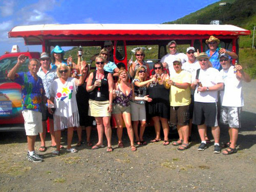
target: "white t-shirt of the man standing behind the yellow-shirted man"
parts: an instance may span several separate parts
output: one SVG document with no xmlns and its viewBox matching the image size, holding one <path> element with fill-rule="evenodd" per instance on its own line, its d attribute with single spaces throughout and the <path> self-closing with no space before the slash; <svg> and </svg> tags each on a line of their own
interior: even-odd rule
<svg viewBox="0 0 256 192">
<path fill-rule="evenodd" d="M 184 54 L 184 53 L 175 53 L 174 55 L 171 55 L 171 54 L 168 53 L 167 55 L 164 55 L 163 58 L 161 59 L 161 62 L 167 62 L 170 76 L 172 74 L 176 73 L 175 70 L 174 70 L 174 63 L 173 62 L 177 58 L 181 59 L 182 63 L 188 61 L 187 55 Z"/>
</svg>

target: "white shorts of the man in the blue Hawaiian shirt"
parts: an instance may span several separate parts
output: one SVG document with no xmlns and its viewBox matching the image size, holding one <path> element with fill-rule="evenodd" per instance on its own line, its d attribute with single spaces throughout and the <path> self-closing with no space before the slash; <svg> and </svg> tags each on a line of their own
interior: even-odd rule
<svg viewBox="0 0 256 192">
<path fill-rule="evenodd" d="M 24 110 L 22 111 L 26 135 L 33 136 L 42 133 L 42 114 L 41 112 Z"/>
</svg>

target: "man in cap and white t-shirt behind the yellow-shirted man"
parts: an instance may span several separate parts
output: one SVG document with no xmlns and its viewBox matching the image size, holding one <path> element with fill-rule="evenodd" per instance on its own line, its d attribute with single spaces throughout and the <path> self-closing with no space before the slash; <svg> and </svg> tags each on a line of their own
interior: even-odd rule
<svg viewBox="0 0 256 192">
<path fill-rule="evenodd" d="M 177 53 L 177 44 L 175 40 L 168 42 L 167 47 L 169 49 L 169 53 L 164 55 L 161 59 L 163 63 L 163 67 L 169 70 L 169 74 L 175 73 L 173 62 L 175 59 L 180 58 L 181 62 L 184 63 L 188 60 L 186 54 L 184 53 Z"/>
</svg>

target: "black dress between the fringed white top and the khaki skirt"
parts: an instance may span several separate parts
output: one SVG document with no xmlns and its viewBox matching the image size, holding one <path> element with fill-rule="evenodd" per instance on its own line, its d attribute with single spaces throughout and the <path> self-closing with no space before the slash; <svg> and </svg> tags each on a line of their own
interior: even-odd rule
<svg viewBox="0 0 256 192">
<path fill-rule="evenodd" d="M 94 117 L 88 115 L 89 110 L 89 93 L 86 91 L 86 84 L 84 83 L 81 86 L 78 86 L 78 91 L 76 94 L 76 102 L 79 113 L 79 123 L 80 126 L 92 126 Z"/>
</svg>

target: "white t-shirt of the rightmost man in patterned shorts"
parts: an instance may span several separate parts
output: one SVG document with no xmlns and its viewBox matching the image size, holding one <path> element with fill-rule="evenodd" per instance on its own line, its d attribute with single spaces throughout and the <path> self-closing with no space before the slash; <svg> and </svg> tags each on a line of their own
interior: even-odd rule
<svg viewBox="0 0 256 192">
<path fill-rule="evenodd" d="M 240 107 L 244 106 L 242 94 L 242 80 L 237 78 L 234 73 L 234 67 L 231 66 L 228 70 L 221 70 L 220 74 L 224 81 L 224 91 L 221 91 L 221 105 Z"/>
</svg>

